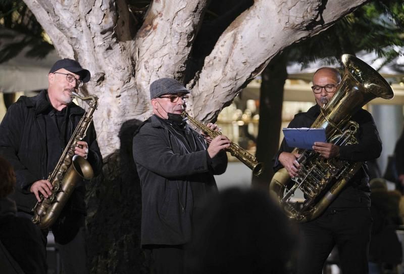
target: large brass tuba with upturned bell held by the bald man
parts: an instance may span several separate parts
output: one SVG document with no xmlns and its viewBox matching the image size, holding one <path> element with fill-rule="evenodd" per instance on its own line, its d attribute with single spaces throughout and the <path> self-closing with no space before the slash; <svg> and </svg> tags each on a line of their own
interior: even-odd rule
<svg viewBox="0 0 404 274">
<path fill-rule="evenodd" d="M 377 97 L 394 96 L 387 81 L 368 64 L 348 54 L 342 55 L 341 60 L 345 67 L 341 83 L 311 126 L 324 128 L 327 142 L 336 146 L 358 143 L 355 134 L 359 125 L 349 121 L 353 114 Z M 325 159 L 313 150 L 295 148 L 292 153 L 300 154 L 299 174 L 290 181 L 286 168 L 281 168 L 272 177 L 269 193 L 286 215 L 298 222 L 313 220 L 324 212 L 363 164 Z M 291 199 L 297 189 L 305 195 L 301 204 Z"/>
</svg>

